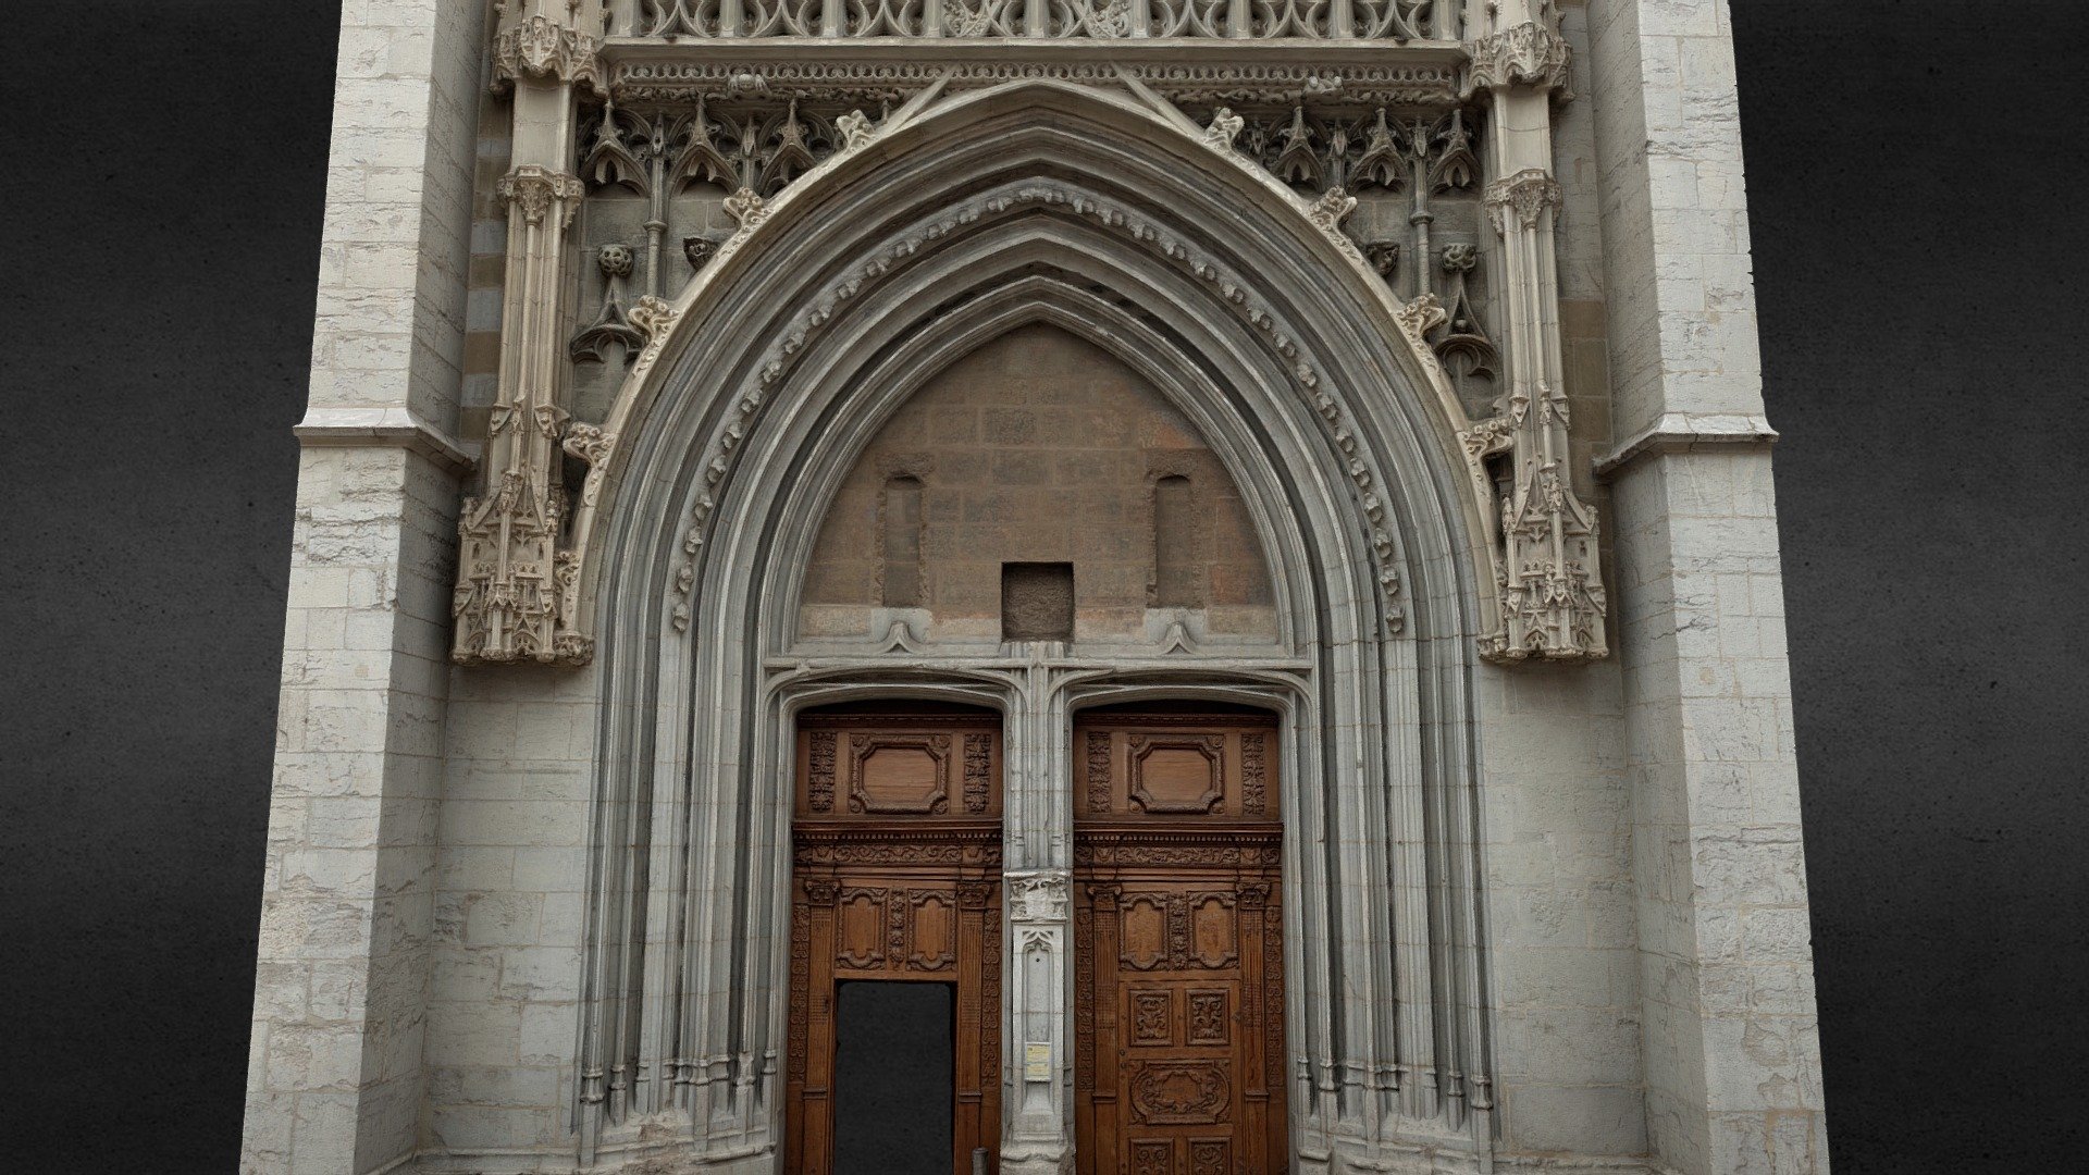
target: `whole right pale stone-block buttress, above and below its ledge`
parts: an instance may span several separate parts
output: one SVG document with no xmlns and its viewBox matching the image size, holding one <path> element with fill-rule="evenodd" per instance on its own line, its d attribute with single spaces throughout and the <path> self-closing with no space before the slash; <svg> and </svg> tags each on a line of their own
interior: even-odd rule
<svg viewBox="0 0 2089 1175">
<path fill-rule="evenodd" d="M 1592 0 L 1648 1139 L 1828 1171 L 1784 585 L 1721 0 Z"/>
</svg>

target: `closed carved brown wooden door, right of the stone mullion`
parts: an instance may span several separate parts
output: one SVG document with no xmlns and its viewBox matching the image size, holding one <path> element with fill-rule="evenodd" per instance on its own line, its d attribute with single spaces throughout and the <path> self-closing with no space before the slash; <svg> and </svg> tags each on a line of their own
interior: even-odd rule
<svg viewBox="0 0 2089 1175">
<path fill-rule="evenodd" d="M 1074 763 L 1078 1171 L 1285 1171 L 1274 719 L 1086 711 Z"/>
</svg>

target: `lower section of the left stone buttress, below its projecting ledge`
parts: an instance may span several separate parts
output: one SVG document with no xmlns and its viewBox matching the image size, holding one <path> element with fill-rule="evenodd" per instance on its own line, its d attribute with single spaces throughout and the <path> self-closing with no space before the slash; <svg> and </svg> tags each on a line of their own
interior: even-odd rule
<svg viewBox="0 0 2089 1175">
<path fill-rule="evenodd" d="M 368 1171 L 420 1137 L 453 512 L 409 450 L 305 452 L 247 1171 Z"/>
</svg>

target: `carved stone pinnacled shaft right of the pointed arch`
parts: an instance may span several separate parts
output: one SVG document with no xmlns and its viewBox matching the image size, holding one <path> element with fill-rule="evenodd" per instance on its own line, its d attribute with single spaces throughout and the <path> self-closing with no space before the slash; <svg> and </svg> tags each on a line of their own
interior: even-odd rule
<svg viewBox="0 0 2089 1175">
<path fill-rule="evenodd" d="M 1508 391 L 1494 418 L 1464 435 L 1483 460 L 1506 460 L 1498 483 L 1502 627 L 1481 642 L 1489 661 L 1588 661 L 1609 654 L 1596 512 L 1567 468 L 1567 391 L 1558 339 L 1552 228 L 1560 186 L 1531 167 L 1487 184 L 1508 295 Z"/>
</svg>

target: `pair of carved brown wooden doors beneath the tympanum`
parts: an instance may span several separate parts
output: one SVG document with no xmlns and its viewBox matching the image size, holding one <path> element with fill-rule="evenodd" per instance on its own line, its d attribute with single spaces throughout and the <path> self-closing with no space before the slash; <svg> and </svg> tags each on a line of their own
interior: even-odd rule
<svg viewBox="0 0 2089 1175">
<path fill-rule="evenodd" d="M 1072 761 L 1078 1171 L 1283 1173 L 1274 721 L 1260 711 L 1084 711 Z M 986 1148 L 988 1171 L 999 1167 L 1001 805 L 999 715 L 800 717 L 792 1175 L 965 1175 L 973 1148 Z M 850 1035 L 873 1035 L 846 1022 L 850 993 L 892 995 L 888 985 L 944 985 L 948 1024 L 919 1041 L 900 1035 L 884 1045 L 890 1056 L 850 1077 Z M 946 1043 L 925 1039 L 938 1033 Z M 928 1150 L 915 1146 L 905 1162 L 850 1150 L 850 1123 L 890 1096 L 882 1085 L 938 1066 L 940 1091 L 884 1123 L 890 1133 L 894 1116 L 907 1129 L 934 1119 Z"/>
</svg>

